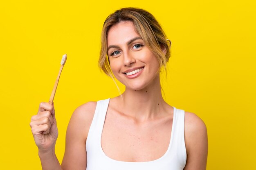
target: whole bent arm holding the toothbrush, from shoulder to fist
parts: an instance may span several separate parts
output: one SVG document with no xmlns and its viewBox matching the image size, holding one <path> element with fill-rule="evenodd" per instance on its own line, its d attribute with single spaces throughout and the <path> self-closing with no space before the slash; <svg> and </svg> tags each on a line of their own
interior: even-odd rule
<svg viewBox="0 0 256 170">
<path fill-rule="evenodd" d="M 85 141 L 90 129 L 96 102 L 88 102 L 78 107 L 70 119 L 66 135 L 66 150 L 62 167 L 55 155 L 58 137 L 54 106 L 41 102 L 38 114 L 32 116 L 30 126 L 43 170 L 86 169 Z"/>
</svg>

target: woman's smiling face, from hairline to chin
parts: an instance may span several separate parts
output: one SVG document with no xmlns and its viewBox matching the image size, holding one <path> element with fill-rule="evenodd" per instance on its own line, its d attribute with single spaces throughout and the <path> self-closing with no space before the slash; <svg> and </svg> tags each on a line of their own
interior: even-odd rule
<svg viewBox="0 0 256 170">
<path fill-rule="evenodd" d="M 157 58 L 136 33 L 132 22 L 112 26 L 107 41 L 110 68 L 126 88 L 140 90 L 156 81 Z"/>
</svg>

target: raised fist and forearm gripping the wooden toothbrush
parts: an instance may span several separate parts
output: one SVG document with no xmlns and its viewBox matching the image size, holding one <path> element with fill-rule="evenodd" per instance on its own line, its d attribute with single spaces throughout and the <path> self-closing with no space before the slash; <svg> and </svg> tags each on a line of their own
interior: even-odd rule
<svg viewBox="0 0 256 170">
<path fill-rule="evenodd" d="M 54 105 L 41 102 L 38 113 L 31 118 L 30 127 L 43 170 L 62 170 L 54 149 L 58 137 Z"/>
</svg>

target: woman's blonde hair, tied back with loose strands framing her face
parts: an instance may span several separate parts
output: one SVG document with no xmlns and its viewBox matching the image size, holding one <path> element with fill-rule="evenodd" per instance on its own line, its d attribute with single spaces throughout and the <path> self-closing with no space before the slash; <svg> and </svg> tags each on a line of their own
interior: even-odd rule
<svg viewBox="0 0 256 170">
<path fill-rule="evenodd" d="M 108 76 L 112 77 L 109 59 L 107 56 L 107 37 L 109 29 L 122 21 L 131 21 L 135 26 L 137 34 L 141 36 L 146 46 L 157 57 L 159 70 L 166 67 L 171 52 L 171 41 L 167 39 L 162 27 L 155 17 L 148 11 L 139 8 L 122 8 L 110 14 L 104 24 L 101 33 L 101 52 L 99 57 L 99 67 Z M 166 50 L 164 54 L 163 49 Z"/>
</svg>

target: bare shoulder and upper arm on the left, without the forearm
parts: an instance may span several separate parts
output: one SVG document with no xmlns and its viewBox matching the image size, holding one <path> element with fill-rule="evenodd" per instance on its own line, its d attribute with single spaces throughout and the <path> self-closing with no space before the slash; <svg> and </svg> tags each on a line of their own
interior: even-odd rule
<svg viewBox="0 0 256 170">
<path fill-rule="evenodd" d="M 79 106 L 70 119 L 66 133 L 63 170 L 85 170 L 87 165 L 86 139 L 94 116 L 96 102 Z"/>
</svg>

